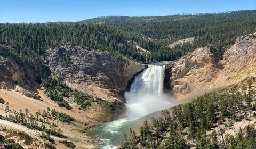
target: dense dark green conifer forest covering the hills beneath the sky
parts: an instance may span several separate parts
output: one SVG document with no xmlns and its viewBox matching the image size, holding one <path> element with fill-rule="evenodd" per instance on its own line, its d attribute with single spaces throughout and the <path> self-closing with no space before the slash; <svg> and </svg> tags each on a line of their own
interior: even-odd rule
<svg viewBox="0 0 256 149">
<path fill-rule="evenodd" d="M 11 60 L 40 60 L 46 49 L 70 44 L 141 62 L 177 60 L 205 45 L 222 51 L 234 44 L 236 37 L 255 32 L 255 15 L 256 11 L 250 10 L 157 17 L 108 16 L 66 23 L 5 23 L 0 24 L 1 55 Z M 195 40 L 167 46 L 189 37 Z M 149 51 L 149 56 L 132 52 L 130 49 L 136 45 Z"/>
</svg>

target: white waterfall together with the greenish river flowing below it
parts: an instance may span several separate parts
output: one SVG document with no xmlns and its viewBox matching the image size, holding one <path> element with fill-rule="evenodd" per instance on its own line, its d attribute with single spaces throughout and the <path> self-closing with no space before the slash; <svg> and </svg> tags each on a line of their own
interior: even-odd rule
<svg viewBox="0 0 256 149">
<path fill-rule="evenodd" d="M 103 123 L 89 133 L 101 142 L 98 148 L 116 148 L 122 142 L 124 133 L 138 125 L 135 121 L 145 115 L 172 106 L 163 93 L 165 64 L 149 65 L 135 77 L 130 92 L 125 92 L 126 113 L 124 118 Z"/>
</svg>

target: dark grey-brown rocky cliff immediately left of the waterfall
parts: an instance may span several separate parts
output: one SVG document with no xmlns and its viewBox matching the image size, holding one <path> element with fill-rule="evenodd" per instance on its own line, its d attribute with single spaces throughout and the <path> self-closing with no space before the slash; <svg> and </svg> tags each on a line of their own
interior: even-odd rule
<svg viewBox="0 0 256 149">
<path fill-rule="evenodd" d="M 132 77 L 146 67 L 110 53 L 71 46 L 49 49 L 47 63 L 69 86 L 102 98 L 125 92 Z"/>
</svg>

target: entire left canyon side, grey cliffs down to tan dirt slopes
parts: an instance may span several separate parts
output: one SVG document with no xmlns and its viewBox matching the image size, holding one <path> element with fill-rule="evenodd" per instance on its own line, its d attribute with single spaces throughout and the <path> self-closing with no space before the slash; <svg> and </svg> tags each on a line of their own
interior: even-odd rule
<svg viewBox="0 0 256 149">
<path fill-rule="evenodd" d="M 45 63 L 49 64 L 50 76 L 50 72 L 44 74 L 44 63 L 26 62 L 26 59 L 18 63 L 6 57 L 0 56 L 0 124 L 4 126 L 0 129 L 0 134 L 14 139 L 25 148 L 35 148 L 37 145 L 40 148 L 49 148 L 47 144 L 66 148 L 63 144 L 72 145 L 70 142 L 74 142 L 78 148 L 94 148 L 95 143 L 86 136 L 87 131 L 100 122 L 115 119 L 120 114 L 124 103 L 122 93 L 129 87 L 135 74 L 146 68 L 144 64 L 110 53 L 71 46 L 47 51 Z M 48 84 L 48 92 L 50 90 L 54 96 L 58 94 L 62 97 L 54 100 L 40 84 L 41 79 L 43 85 L 45 80 L 50 77 L 58 78 L 57 76 L 64 78 L 70 88 L 66 87 L 62 92 L 60 86 L 53 85 L 52 79 Z M 93 96 L 87 96 L 75 89 Z M 72 92 L 77 96 L 71 94 Z M 76 98 L 80 102 L 90 98 L 91 102 L 82 106 Z M 70 110 L 60 107 L 59 101 L 66 101 Z M 60 116 L 54 115 L 54 111 L 61 113 L 60 116 L 65 117 L 64 119 L 71 115 L 74 120 L 65 122 Z M 26 131 L 28 135 L 22 135 L 18 131 Z M 66 139 L 68 142 L 65 142 Z M 59 140 L 63 143 L 58 142 Z M 52 144 L 54 141 L 55 144 Z"/>
</svg>

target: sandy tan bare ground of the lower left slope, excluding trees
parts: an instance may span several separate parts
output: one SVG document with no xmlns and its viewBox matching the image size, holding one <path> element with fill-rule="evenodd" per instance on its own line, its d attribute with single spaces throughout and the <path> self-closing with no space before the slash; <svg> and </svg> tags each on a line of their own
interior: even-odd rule
<svg viewBox="0 0 256 149">
<path fill-rule="evenodd" d="M 67 110 L 65 108 L 61 108 L 58 106 L 57 103 L 54 103 L 50 100 L 46 95 L 43 94 L 43 90 L 38 89 L 39 95 L 42 97 L 43 101 L 35 100 L 33 98 L 26 97 L 15 90 L 4 90 L 0 89 L 0 97 L 5 100 L 5 102 L 9 103 L 9 109 L 13 111 L 22 110 L 23 112 L 27 108 L 29 113 L 34 114 L 35 112 L 42 111 L 44 109 L 47 110 L 47 107 L 50 109 L 55 109 L 56 111 L 67 113 L 72 115 L 76 119 L 76 122 L 72 123 L 63 123 L 58 120 L 51 120 L 48 119 L 51 123 L 57 123 L 58 129 L 60 128 L 64 135 L 68 136 L 67 140 L 74 142 L 74 144 L 79 148 L 94 148 L 93 143 L 91 142 L 90 138 L 86 136 L 86 134 L 82 133 L 83 128 L 85 128 L 84 124 L 87 123 L 88 125 L 86 128 L 89 128 L 97 125 L 97 120 L 95 120 L 95 115 L 98 115 L 97 105 L 93 105 L 93 107 L 89 107 L 89 110 L 82 111 L 78 110 L 73 106 L 72 110 Z M 7 114 L 12 114 L 12 112 L 6 112 L 5 110 L 6 104 L 0 104 L 0 114 L 5 117 Z M 100 107 L 99 107 L 100 108 Z M 43 142 L 42 138 L 39 136 L 41 135 L 41 131 L 35 129 L 28 129 L 25 126 L 22 126 L 18 123 L 9 122 L 6 120 L 0 120 L 0 125 L 6 127 L 7 129 L 25 131 L 29 136 L 33 136 Z M 2 131 L 1 131 L 2 132 Z M 62 138 L 52 136 L 55 139 L 55 143 L 58 146 L 61 144 L 58 143 L 58 140 L 62 140 Z M 23 145 L 22 145 L 23 146 Z M 62 146 L 63 147 L 63 146 Z M 61 148 L 62 148 L 61 147 Z M 27 148 L 27 147 L 26 147 Z M 28 147 L 29 148 L 29 147 Z"/>
</svg>

